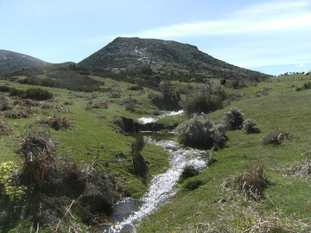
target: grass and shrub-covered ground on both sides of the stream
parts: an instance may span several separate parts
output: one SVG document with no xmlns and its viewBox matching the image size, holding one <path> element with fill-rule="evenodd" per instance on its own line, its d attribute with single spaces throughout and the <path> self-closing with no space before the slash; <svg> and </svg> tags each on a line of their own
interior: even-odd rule
<svg viewBox="0 0 311 233">
<path fill-rule="evenodd" d="M 163 133 L 204 112 L 213 140 L 195 146 L 214 159 L 137 232 L 309 232 L 309 77 L 186 75 L 74 63 L 2 74 L 0 231 L 86 232 L 113 203 L 141 197 L 169 161 L 131 120 L 184 109 L 159 118 Z"/>
</svg>

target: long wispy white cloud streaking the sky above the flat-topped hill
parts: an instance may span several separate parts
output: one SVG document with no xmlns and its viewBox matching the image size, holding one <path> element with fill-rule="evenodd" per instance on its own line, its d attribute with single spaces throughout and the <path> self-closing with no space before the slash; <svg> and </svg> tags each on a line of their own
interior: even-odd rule
<svg viewBox="0 0 311 233">
<path fill-rule="evenodd" d="M 290 31 L 311 26 L 309 1 L 267 2 L 234 12 L 226 20 L 208 20 L 145 30 L 127 37 L 173 38 Z"/>
</svg>

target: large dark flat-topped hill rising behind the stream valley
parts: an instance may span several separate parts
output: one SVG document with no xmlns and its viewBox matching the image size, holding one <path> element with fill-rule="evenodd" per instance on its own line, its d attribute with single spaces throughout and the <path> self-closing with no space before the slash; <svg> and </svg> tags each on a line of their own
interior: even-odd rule
<svg viewBox="0 0 311 233">
<path fill-rule="evenodd" d="M 196 46 L 161 39 L 118 37 L 91 56 L 78 63 L 79 66 L 105 69 L 141 69 L 150 65 L 153 71 L 195 71 L 215 75 L 219 71 L 247 74 L 250 70 L 220 61 Z"/>
</svg>

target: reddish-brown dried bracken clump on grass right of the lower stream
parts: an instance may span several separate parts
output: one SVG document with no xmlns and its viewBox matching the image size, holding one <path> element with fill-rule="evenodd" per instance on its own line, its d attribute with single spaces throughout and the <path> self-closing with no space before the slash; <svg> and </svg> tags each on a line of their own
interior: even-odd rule
<svg viewBox="0 0 311 233">
<path fill-rule="evenodd" d="M 259 200 L 263 188 L 268 184 L 263 172 L 263 164 L 257 162 L 254 166 L 249 167 L 249 171 L 235 173 L 232 181 L 233 190 L 238 190 L 244 196 Z"/>
</svg>

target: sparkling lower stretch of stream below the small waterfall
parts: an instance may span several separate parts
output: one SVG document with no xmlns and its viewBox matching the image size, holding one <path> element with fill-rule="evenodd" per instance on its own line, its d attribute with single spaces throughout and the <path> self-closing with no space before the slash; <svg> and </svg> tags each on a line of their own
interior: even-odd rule
<svg viewBox="0 0 311 233">
<path fill-rule="evenodd" d="M 177 181 L 183 168 L 193 165 L 198 170 L 202 170 L 211 157 L 211 152 L 183 147 L 175 143 L 173 134 L 143 133 L 146 142 L 161 146 L 169 152 L 169 169 L 152 178 L 148 191 L 141 199 L 126 199 L 118 203 L 109 220 L 100 223 L 92 232 L 136 232 L 136 227 L 139 226 L 143 217 L 168 203 L 169 198 L 176 194 L 179 189 Z"/>
</svg>

